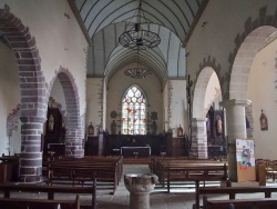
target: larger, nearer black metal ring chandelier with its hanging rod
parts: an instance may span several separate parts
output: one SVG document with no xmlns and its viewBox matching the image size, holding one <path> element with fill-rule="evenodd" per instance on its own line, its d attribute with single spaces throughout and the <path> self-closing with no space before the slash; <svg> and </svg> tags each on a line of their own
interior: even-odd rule
<svg viewBox="0 0 277 209">
<path fill-rule="evenodd" d="M 138 3 L 140 6 L 136 23 L 131 30 L 125 31 L 120 36 L 119 42 L 124 48 L 145 50 L 158 46 L 161 39 L 157 33 L 142 29 L 141 19 L 142 17 L 144 18 L 144 14 L 142 12 L 141 1 L 138 1 Z"/>
</svg>

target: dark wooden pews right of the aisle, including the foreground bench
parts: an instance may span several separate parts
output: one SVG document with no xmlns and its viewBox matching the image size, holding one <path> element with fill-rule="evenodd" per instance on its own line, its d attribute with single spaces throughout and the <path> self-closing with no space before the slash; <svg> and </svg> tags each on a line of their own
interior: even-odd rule
<svg viewBox="0 0 277 209">
<path fill-rule="evenodd" d="M 259 167 L 260 163 L 256 163 Z M 228 187 L 228 173 L 226 161 L 214 161 L 208 159 L 188 159 L 185 157 L 152 158 L 148 163 L 150 170 L 160 178 L 160 183 L 167 187 L 170 192 L 174 181 L 195 181 L 195 203 L 193 209 L 269 209 L 277 208 L 277 199 L 271 197 L 277 192 L 276 186 L 252 186 L 252 187 Z M 259 176 L 264 171 L 258 171 Z M 203 181 L 204 187 L 201 187 Z M 220 187 L 205 187 L 205 181 L 222 181 Z M 223 183 L 224 182 L 224 183 Z M 237 198 L 239 193 L 264 193 L 264 198 Z M 214 195 L 228 195 L 228 199 L 216 199 Z M 203 197 L 203 206 L 201 206 Z M 213 197 L 213 198 L 212 198 Z"/>
</svg>

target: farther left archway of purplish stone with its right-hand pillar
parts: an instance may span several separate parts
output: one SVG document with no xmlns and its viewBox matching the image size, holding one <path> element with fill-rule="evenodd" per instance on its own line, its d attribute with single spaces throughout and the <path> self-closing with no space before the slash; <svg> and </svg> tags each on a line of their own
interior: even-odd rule
<svg viewBox="0 0 277 209">
<path fill-rule="evenodd" d="M 84 156 L 82 118 L 80 116 L 79 94 L 75 80 L 70 71 L 63 67 L 55 72 L 55 78 L 51 81 L 49 92 L 55 79 L 59 79 L 65 97 L 65 156 L 68 158 L 81 158 Z"/>
</svg>

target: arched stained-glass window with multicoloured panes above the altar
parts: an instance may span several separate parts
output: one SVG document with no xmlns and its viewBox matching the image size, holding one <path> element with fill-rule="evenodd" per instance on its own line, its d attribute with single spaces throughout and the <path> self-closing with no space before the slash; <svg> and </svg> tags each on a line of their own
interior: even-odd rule
<svg viewBox="0 0 277 209">
<path fill-rule="evenodd" d="M 122 133 L 146 133 L 146 99 L 143 92 L 132 86 L 122 99 Z"/>
</svg>

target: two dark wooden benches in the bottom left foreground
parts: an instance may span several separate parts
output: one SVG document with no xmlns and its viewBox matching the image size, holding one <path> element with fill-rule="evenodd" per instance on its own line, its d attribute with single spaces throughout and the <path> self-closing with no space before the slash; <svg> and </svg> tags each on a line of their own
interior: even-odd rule
<svg viewBox="0 0 277 209">
<path fill-rule="evenodd" d="M 22 185 L 22 183 L 0 183 L 0 208 L 4 209 L 96 209 L 96 180 L 90 187 L 69 187 L 69 186 L 45 186 L 45 185 Z M 37 192 L 45 193 L 47 198 L 18 198 L 14 192 Z M 58 193 L 72 193 L 75 199 L 59 199 Z M 78 195 L 75 195 L 78 193 Z M 91 195 L 91 206 L 81 206 L 80 195 Z"/>
</svg>

